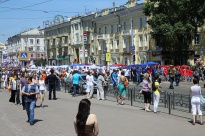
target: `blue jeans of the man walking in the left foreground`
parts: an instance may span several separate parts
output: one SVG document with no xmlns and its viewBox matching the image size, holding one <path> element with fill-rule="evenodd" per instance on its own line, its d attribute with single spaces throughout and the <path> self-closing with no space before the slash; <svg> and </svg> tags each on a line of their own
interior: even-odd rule
<svg viewBox="0 0 205 136">
<path fill-rule="evenodd" d="M 33 100 L 31 102 L 25 102 L 26 112 L 27 112 L 28 120 L 29 120 L 30 123 L 33 123 L 33 121 L 34 121 L 35 103 L 36 103 L 35 100 Z"/>
</svg>

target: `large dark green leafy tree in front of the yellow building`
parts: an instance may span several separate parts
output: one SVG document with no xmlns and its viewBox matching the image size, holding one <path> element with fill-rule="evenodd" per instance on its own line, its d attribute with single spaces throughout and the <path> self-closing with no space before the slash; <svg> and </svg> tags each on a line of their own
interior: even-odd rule
<svg viewBox="0 0 205 136">
<path fill-rule="evenodd" d="M 205 0 L 148 0 L 143 8 L 150 16 L 151 36 L 157 46 L 170 53 L 171 62 L 182 64 L 189 57 L 188 48 L 204 24 Z"/>
</svg>

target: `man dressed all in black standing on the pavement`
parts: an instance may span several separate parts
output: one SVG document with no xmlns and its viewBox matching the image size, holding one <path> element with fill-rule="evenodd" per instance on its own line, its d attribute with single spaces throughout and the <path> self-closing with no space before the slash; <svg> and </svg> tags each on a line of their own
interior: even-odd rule
<svg viewBox="0 0 205 136">
<path fill-rule="evenodd" d="M 58 82 L 58 78 L 54 74 L 54 70 L 50 70 L 51 74 L 46 77 L 45 83 L 48 84 L 48 91 L 49 91 L 49 97 L 48 99 L 51 100 L 51 93 L 53 91 L 53 100 L 56 99 L 56 84 Z"/>
</svg>

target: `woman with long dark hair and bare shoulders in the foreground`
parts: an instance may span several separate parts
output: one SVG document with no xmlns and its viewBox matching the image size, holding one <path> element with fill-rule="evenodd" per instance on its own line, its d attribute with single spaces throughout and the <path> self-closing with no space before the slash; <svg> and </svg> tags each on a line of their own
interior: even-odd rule
<svg viewBox="0 0 205 136">
<path fill-rule="evenodd" d="M 90 101 L 82 99 L 78 113 L 74 117 L 74 127 L 78 136 L 97 136 L 99 133 L 98 121 L 95 114 L 90 114 Z"/>
</svg>

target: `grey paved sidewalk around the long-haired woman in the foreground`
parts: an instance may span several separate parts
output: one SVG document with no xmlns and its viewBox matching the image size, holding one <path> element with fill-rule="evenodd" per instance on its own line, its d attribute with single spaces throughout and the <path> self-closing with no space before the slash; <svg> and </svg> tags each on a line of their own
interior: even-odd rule
<svg viewBox="0 0 205 136">
<path fill-rule="evenodd" d="M 37 122 L 34 126 L 26 123 L 26 111 L 22 106 L 9 103 L 9 97 L 7 90 L 0 90 L 0 136 L 76 136 L 73 118 L 79 101 L 85 96 L 71 97 L 68 93 L 57 92 L 56 101 L 46 97 L 46 107 L 35 109 Z M 205 126 L 192 126 L 190 119 L 154 114 L 142 111 L 140 107 L 95 98 L 91 103 L 91 113 L 95 113 L 99 121 L 99 136 L 193 136 L 205 133 Z"/>
</svg>

